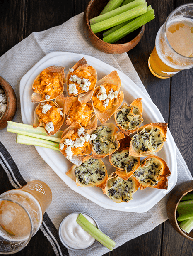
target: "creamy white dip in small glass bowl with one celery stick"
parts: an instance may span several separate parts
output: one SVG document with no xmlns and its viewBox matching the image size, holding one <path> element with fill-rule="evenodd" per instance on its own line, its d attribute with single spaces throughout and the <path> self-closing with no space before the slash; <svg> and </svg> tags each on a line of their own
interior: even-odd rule
<svg viewBox="0 0 193 256">
<path fill-rule="evenodd" d="M 77 223 L 78 215 L 79 213 L 70 214 L 64 219 L 60 226 L 60 236 L 69 247 L 74 249 L 86 249 L 94 243 L 95 239 Z M 96 223 L 91 217 L 86 214 L 83 215 L 89 222 L 96 226 Z"/>
</svg>

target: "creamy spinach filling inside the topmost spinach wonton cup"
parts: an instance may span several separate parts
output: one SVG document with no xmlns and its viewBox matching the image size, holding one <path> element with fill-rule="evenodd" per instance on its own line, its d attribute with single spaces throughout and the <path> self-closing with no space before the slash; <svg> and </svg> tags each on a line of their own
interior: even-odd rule
<svg viewBox="0 0 193 256">
<path fill-rule="evenodd" d="M 133 113 L 131 112 L 133 110 Z M 134 116 L 133 114 L 137 115 Z M 126 130 L 133 130 L 142 123 L 142 118 L 139 118 L 140 111 L 133 106 L 129 108 L 121 108 L 116 113 L 117 123 Z"/>
</svg>

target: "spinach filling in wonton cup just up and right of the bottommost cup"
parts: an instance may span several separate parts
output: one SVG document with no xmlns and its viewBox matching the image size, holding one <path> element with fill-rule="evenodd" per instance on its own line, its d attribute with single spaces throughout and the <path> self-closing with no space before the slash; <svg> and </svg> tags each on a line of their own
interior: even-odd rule
<svg viewBox="0 0 193 256">
<path fill-rule="evenodd" d="M 138 170 L 136 170 L 133 176 L 138 179 L 138 181 L 144 185 L 150 184 L 155 185 L 158 183 L 159 175 L 162 172 L 161 163 L 155 158 L 149 158 L 146 161 L 145 166 L 140 166 Z"/>
</svg>

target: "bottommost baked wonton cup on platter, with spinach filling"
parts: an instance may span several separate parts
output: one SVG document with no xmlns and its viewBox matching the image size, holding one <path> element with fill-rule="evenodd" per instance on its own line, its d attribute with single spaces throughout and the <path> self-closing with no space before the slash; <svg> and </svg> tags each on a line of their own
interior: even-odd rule
<svg viewBox="0 0 193 256">
<path fill-rule="evenodd" d="M 133 194 L 138 190 L 140 183 L 131 176 L 128 180 L 124 180 L 115 172 L 109 175 L 104 187 L 103 193 L 116 203 L 129 202 L 133 199 Z"/>
</svg>

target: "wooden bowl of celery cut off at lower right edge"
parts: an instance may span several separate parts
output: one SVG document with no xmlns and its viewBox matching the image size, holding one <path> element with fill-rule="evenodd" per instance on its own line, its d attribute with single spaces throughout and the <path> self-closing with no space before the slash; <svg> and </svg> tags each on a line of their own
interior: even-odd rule
<svg viewBox="0 0 193 256">
<path fill-rule="evenodd" d="M 193 180 L 183 182 L 172 190 L 166 209 L 174 229 L 193 241 Z"/>
</svg>

